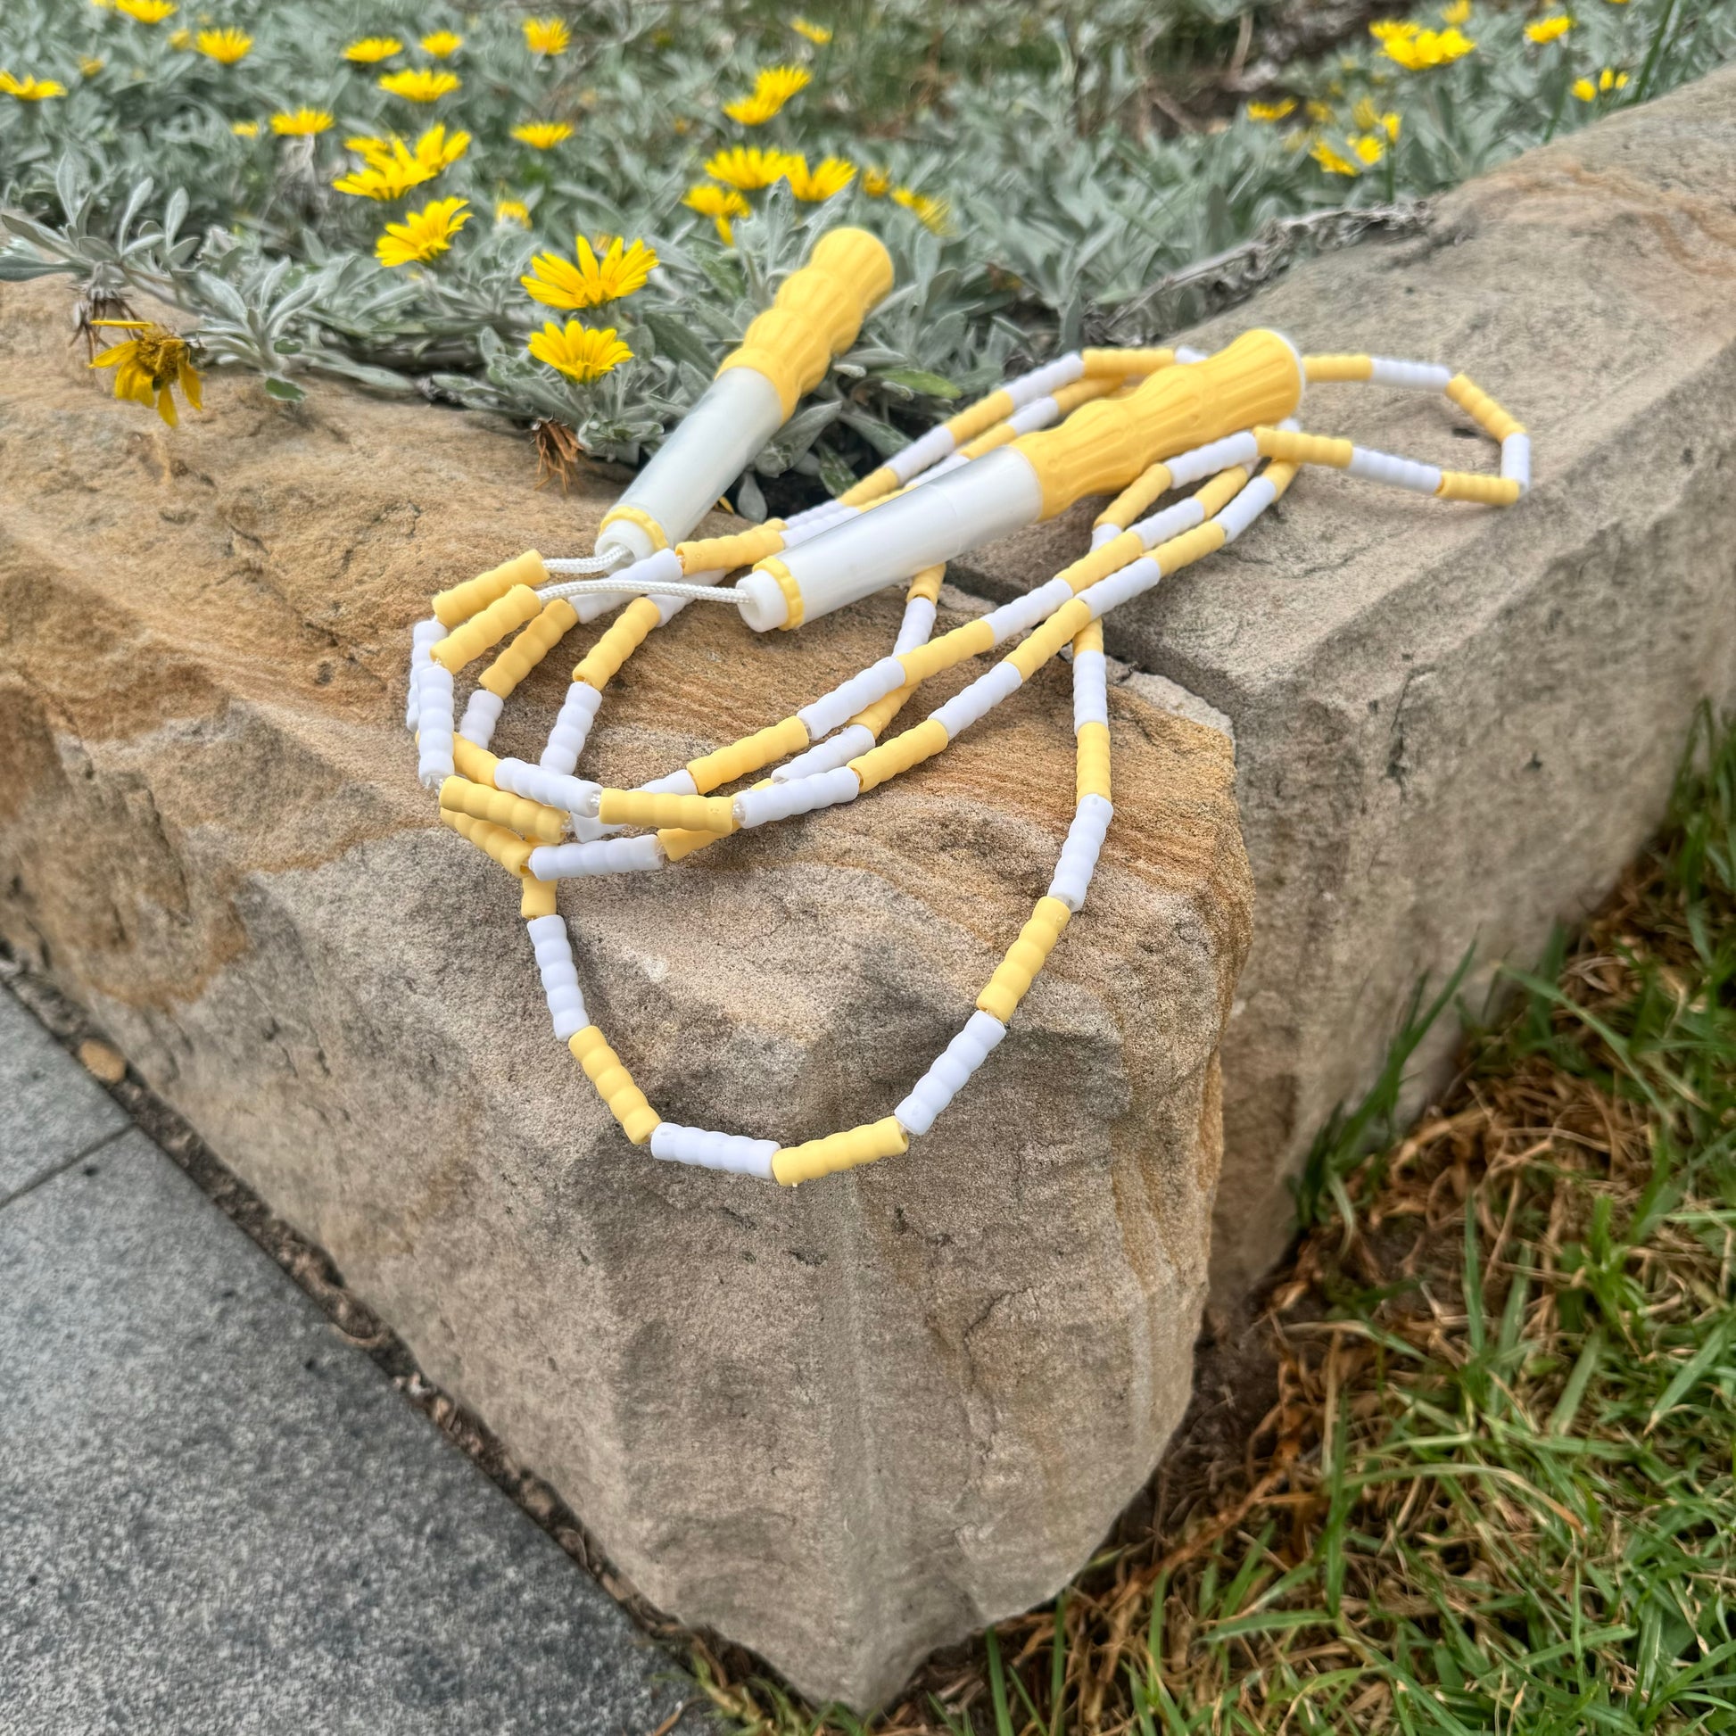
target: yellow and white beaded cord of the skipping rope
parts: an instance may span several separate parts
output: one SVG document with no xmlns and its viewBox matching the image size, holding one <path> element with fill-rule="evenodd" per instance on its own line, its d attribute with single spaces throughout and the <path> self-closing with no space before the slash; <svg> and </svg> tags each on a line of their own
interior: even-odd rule
<svg viewBox="0 0 1736 1736">
<path fill-rule="evenodd" d="M 602 595 L 611 587 L 608 578 L 562 582 L 562 575 L 594 575 L 599 562 L 545 561 L 529 550 L 441 592 L 432 618 L 415 625 L 404 720 L 417 736 L 417 774 L 437 792 L 441 819 L 519 880 L 519 908 L 554 1036 L 571 1049 L 634 1144 L 649 1146 L 654 1158 L 670 1163 L 783 1186 L 904 1153 L 1007 1035 L 1019 1002 L 1085 904 L 1115 816 L 1102 616 L 1234 542 L 1305 465 L 1439 500 L 1502 507 L 1531 486 L 1526 431 L 1463 373 L 1384 356 L 1304 356 L 1309 384 L 1366 382 L 1444 394 L 1498 443 L 1500 474 L 1443 470 L 1309 434 L 1293 422 L 1248 427 L 1146 467 L 1097 516 L 1090 549 L 1036 590 L 936 639 L 944 568 L 924 568 L 910 580 L 891 653 L 790 717 L 637 790 L 602 788 L 576 776 L 608 684 L 649 634 L 689 602 L 736 601 L 738 594 L 719 583 L 729 573 L 757 566 L 776 578 L 783 552 L 1021 436 L 1062 424 L 1073 411 L 1123 394 L 1160 370 L 1205 359 L 1189 349 L 1087 349 L 1061 356 L 911 441 L 837 500 L 788 521 L 660 547 L 634 568 L 630 589 L 642 594 L 627 602 L 573 668 L 536 766 L 496 759 L 488 743 L 512 691 L 578 625 L 568 597 Z M 1151 510 L 1184 488 L 1194 491 Z M 792 613 L 785 625 L 795 627 L 802 597 L 786 580 L 788 573 L 778 580 Z M 616 592 L 627 589 L 616 583 Z M 455 733 L 455 677 L 509 639 L 483 670 Z M 882 740 L 924 681 L 1014 639 L 1019 642 L 1010 651 L 922 722 Z M 1054 878 L 977 995 L 976 1010 L 910 1095 L 878 1121 L 793 1146 L 663 1121 L 585 1012 L 571 937 L 556 915 L 556 882 L 658 871 L 729 833 L 854 802 L 941 753 L 1064 649 L 1073 658 L 1076 774 L 1073 823 Z M 748 778 L 757 781 L 734 795 L 715 793 Z"/>
</svg>

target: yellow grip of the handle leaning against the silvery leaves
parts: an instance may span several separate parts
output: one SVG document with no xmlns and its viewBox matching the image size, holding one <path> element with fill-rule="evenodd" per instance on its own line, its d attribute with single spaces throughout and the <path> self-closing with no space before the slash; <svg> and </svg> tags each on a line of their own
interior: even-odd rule
<svg viewBox="0 0 1736 1736">
<path fill-rule="evenodd" d="M 856 342 L 868 311 L 892 288 L 892 255 L 866 229 L 833 229 L 819 238 L 807 264 L 790 273 L 776 300 L 733 349 L 726 368 L 764 373 L 790 420 L 797 399 L 811 392 L 833 356 Z"/>
</svg>

